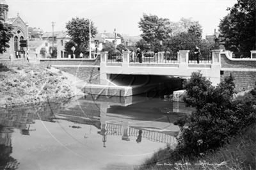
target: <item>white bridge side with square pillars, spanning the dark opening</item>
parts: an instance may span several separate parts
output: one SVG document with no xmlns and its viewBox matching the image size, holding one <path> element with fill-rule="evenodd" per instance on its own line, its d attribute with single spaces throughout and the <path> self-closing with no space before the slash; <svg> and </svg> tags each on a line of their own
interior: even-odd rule
<svg viewBox="0 0 256 170">
<path fill-rule="evenodd" d="M 220 53 L 221 50 L 212 50 L 212 63 L 189 63 L 189 50 L 178 52 L 177 63 L 130 63 L 129 51 L 123 52 L 123 62 L 108 63 L 108 52 L 102 52 L 100 56 L 100 83 L 107 84 L 108 74 L 126 75 L 170 75 L 188 79 L 192 72 L 201 73 L 210 79 L 212 85 L 220 83 Z M 158 52 L 163 57 L 163 52 Z"/>
</svg>

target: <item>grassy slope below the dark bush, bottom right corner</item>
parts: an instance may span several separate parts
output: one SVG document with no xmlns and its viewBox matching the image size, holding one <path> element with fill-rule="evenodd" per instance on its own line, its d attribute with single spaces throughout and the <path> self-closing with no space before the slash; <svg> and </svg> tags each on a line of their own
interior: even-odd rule
<svg viewBox="0 0 256 170">
<path fill-rule="evenodd" d="M 202 157 L 189 158 L 180 155 L 180 161 L 173 162 L 175 154 L 168 147 L 154 153 L 143 162 L 139 169 L 255 169 L 256 168 L 256 127 L 244 128 L 240 135 L 230 139 L 216 151 Z"/>
</svg>

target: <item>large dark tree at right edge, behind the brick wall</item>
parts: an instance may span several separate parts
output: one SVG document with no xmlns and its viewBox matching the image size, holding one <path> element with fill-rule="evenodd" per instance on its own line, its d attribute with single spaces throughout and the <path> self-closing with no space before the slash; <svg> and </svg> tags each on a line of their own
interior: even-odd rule
<svg viewBox="0 0 256 170">
<path fill-rule="evenodd" d="M 237 0 L 220 22 L 220 39 L 225 48 L 234 52 L 256 49 L 256 3 L 254 0 Z"/>
</svg>

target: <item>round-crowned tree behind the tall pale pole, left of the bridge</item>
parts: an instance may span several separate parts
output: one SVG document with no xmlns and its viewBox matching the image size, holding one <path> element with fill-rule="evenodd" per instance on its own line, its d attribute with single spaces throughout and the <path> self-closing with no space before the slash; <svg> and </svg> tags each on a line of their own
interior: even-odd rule
<svg viewBox="0 0 256 170">
<path fill-rule="evenodd" d="M 79 19 L 78 17 L 70 20 L 67 25 L 67 33 L 72 40 L 77 44 L 77 52 L 85 52 L 89 46 L 89 20 Z M 97 34 L 97 28 L 91 21 L 91 35 L 94 37 Z"/>
</svg>

